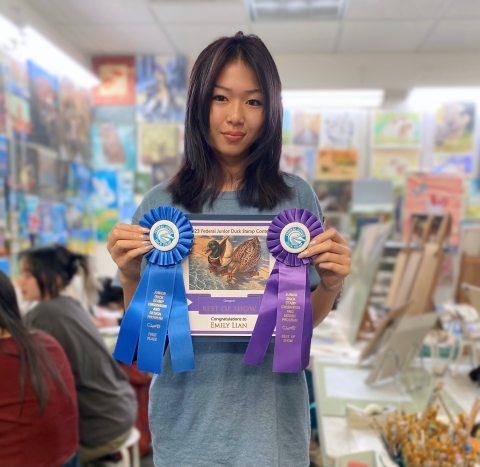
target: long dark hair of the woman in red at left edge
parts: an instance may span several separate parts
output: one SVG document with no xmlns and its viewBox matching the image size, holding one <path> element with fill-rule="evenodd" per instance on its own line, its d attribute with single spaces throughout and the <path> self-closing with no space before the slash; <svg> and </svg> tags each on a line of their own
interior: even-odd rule
<svg viewBox="0 0 480 467">
<path fill-rule="evenodd" d="M 9 278 L 0 271 L 0 331 L 8 331 L 18 347 L 20 358 L 20 386 L 22 407 L 25 401 L 26 367 L 37 396 L 38 410 L 42 413 L 48 403 L 46 378 L 53 381 L 68 394 L 65 384 L 42 343 L 34 333 L 30 333 L 22 322 L 15 290 Z M 0 343 L 2 340 L 0 339 Z M 0 351 L 3 349 L 0 348 Z M 15 354 L 16 355 L 16 354 Z"/>
</svg>

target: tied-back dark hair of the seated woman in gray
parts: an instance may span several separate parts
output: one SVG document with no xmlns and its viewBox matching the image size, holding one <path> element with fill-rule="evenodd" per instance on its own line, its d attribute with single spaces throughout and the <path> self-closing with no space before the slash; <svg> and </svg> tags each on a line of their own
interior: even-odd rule
<svg viewBox="0 0 480 467">
<path fill-rule="evenodd" d="M 45 245 L 25 250 L 19 255 L 37 281 L 42 298 L 55 298 L 82 272 L 85 291 L 91 303 L 96 302 L 97 287 L 88 257 L 74 253 L 63 245 Z"/>
</svg>

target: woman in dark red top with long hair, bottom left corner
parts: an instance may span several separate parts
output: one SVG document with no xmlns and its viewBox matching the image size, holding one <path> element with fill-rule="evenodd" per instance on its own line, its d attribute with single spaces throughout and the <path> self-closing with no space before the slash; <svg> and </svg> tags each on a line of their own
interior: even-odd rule
<svg viewBox="0 0 480 467">
<path fill-rule="evenodd" d="M 79 467 L 77 396 L 58 342 L 22 323 L 0 272 L 0 465 Z"/>
</svg>

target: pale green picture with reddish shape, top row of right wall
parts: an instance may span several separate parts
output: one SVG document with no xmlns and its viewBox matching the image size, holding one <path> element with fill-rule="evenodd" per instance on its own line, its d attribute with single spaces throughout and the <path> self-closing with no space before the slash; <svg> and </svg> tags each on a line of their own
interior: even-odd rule
<svg viewBox="0 0 480 467">
<path fill-rule="evenodd" d="M 422 117 L 416 112 L 375 112 L 372 145 L 417 147 L 421 143 Z"/>
</svg>

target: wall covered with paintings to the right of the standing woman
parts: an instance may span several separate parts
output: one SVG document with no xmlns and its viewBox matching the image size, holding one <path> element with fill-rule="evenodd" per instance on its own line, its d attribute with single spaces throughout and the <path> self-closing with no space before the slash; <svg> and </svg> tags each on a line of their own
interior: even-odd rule
<svg viewBox="0 0 480 467">
<path fill-rule="evenodd" d="M 327 224 L 350 238 L 391 219 L 401 239 L 412 214 L 449 212 L 456 246 L 460 224 L 480 218 L 478 109 L 438 102 L 434 112 L 285 109 L 282 168 L 313 185 Z M 390 193 L 360 179 L 388 180 Z"/>
</svg>

